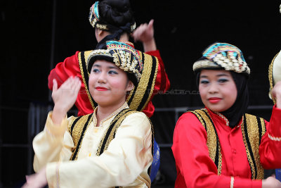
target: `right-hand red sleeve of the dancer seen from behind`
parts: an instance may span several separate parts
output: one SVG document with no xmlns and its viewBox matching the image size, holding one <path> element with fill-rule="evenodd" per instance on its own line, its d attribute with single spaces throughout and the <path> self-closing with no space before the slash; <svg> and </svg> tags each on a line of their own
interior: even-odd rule
<svg viewBox="0 0 281 188">
<path fill-rule="evenodd" d="M 146 51 L 145 54 L 149 54 L 150 56 L 157 57 L 158 62 L 159 62 L 159 66 L 158 66 L 158 70 L 157 70 L 157 76 L 156 76 L 156 79 L 155 79 L 155 86 L 154 86 L 152 96 L 151 96 L 148 104 L 143 109 L 143 113 L 145 113 L 145 115 L 148 115 L 148 117 L 150 118 L 155 111 L 155 107 L 152 104 L 153 97 L 155 96 L 155 94 L 158 94 L 159 91 L 162 92 L 162 93 L 166 92 L 166 90 L 168 90 L 169 87 L 170 87 L 170 80 L 168 78 L 168 75 L 166 75 L 164 63 L 162 61 L 162 58 L 160 56 L 159 51 L 158 50 Z"/>
</svg>

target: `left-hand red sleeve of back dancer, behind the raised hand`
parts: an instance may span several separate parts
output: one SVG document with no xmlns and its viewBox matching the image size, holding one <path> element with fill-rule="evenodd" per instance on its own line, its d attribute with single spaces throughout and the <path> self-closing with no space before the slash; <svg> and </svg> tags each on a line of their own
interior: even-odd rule
<svg viewBox="0 0 281 188">
<path fill-rule="evenodd" d="M 58 87 L 60 87 L 65 80 L 70 76 L 78 76 L 81 79 L 81 73 L 78 62 L 77 51 L 73 56 L 65 58 L 65 61 L 58 63 L 53 70 L 51 70 L 50 75 L 48 75 L 48 88 L 53 89 L 53 79 L 57 80 Z"/>
</svg>

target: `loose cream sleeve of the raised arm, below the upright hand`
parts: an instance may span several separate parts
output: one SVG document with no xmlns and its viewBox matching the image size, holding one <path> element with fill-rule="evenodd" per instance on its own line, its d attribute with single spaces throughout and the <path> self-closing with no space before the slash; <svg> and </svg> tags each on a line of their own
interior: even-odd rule
<svg viewBox="0 0 281 188">
<path fill-rule="evenodd" d="M 65 116 L 60 125 L 54 125 L 51 115 L 52 112 L 48 113 L 44 130 L 33 139 L 35 172 L 38 172 L 47 163 L 69 160 L 72 154 L 74 144 L 71 135 L 66 131 L 67 117 Z"/>
</svg>

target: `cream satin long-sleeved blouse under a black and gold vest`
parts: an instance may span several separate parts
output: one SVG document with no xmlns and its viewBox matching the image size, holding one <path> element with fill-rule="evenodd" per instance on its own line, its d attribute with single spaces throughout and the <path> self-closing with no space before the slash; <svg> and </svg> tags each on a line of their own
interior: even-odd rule
<svg viewBox="0 0 281 188">
<path fill-rule="evenodd" d="M 152 130 L 144 113 L 128 115 L 119 126 L 115 138 L 100 156 L 96 151 L 107 127 L 125 103 L 96 127 L 93 121 L 86 129 L 77 161 L 70 161 L 74 142 L 67 125 L 73 116 L 54 125 L 52 112 L 45 128 L 33 140 L 34 170 L 46 165 L 49 187 L 150 187 L 148 168 L 152 163 Z"/>
</svg>

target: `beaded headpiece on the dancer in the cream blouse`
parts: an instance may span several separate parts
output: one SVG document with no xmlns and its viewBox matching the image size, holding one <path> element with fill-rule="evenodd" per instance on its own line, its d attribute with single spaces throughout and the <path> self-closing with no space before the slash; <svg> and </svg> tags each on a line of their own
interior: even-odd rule
<svg viewBox="0 0 281 188">
<path fill-rule="evenodd" d="M 89 73 L 93 63 L 97 59 L 104 59 L 115 63 L 117 67 L 127 73 L 132 73 L 137 80 L 140 80 L 143 71 L 143 62 L 136 49 L 124 42 L 118 41 L 108 41 L 106 42 L 106 47 L 107 49 L 96 49 L 91 51 L 87 62 Z"/>
</svg>

